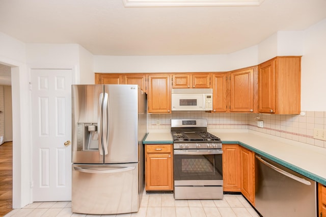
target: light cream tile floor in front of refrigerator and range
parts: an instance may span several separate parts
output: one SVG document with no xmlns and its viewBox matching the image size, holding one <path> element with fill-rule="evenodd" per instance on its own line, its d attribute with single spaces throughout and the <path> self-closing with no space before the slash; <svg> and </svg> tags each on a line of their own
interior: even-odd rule
<svg viewBox="0 0 326 217">
<path fill-rule="evenodd" d="M 117 216 L 117 217 L 252 217 L 259 216 L 242 195 L 224 195 L 222 200 L 175 200 L 172 194 L 141 196 L 138 212 L 113 215 L 91 215 L 71 212 L 71 202 L 34 202 L 14 209 L 9 216 Z"/>
</svg>

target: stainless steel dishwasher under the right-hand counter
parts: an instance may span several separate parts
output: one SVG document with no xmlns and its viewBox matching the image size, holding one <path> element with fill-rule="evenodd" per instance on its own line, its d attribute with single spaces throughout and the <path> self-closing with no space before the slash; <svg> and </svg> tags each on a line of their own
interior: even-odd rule
<svg viewBox="0 0 326 217">
<path fill-rule="evenodd" d="M 256 155 L 255 208 L 264 217 L 315 217 L 316 182 Z"/>
</svg>

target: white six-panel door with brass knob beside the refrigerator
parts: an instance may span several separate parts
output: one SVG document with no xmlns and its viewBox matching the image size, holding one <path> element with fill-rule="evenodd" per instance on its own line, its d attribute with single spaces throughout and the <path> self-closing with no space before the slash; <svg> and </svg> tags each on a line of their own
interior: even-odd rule
<svg viewBox="0 0 326 217">
<path fill-rule="evenodd" d="M 71 200 L 70 69 L 32 69 L 33 201 Z"/>
</svg>

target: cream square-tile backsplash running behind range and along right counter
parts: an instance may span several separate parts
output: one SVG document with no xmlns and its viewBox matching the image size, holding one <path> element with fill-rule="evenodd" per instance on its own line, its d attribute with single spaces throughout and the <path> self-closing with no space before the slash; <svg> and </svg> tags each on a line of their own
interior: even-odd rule
<svg viewBox="0 0 326 217">
<path fill-rule="evenodd" d="M 148 129 L 170 130 L 171 119 L 207 119 L 208 129 L 249 129 L 326 148 L 326 141 L 313 138 L 314 128 L 326 129 L 326 112 L 305 111 L 305 115 L 268 115 L 207 112 L 172 112 L 149 114 Z M 264 122 L 257 127 L 256 121 Z"/>
</svg>

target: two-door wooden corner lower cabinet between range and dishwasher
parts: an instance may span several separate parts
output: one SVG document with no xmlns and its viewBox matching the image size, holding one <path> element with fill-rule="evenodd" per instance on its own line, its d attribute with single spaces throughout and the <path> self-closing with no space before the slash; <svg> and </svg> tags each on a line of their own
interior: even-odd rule
<svg viewBox="0 0 326 217">
<path fill-rule="evenodd" d="M 223 191 L 241 192 L 255 205 L 255 152 L 237 144 L 223 144 Z"/>
</svg>

